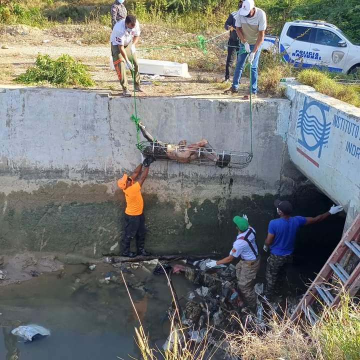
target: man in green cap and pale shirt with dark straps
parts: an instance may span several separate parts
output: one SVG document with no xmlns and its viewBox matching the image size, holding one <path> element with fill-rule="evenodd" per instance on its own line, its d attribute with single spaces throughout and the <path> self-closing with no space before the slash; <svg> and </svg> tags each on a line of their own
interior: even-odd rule
<svg viewBox="0 0 360 360">
<path fill-rule="evenodd" d="M 221 260 L 211 260 L 206 266 L 211 268 L 239 258 L 236 265 L 237 288 L 241 291 L 246 305 L 254 311 L 256 309 L 256 295 L 253 285 L 260 266 L 255 230 L 248 224 L 246 215 L 235 216 L 232 221 L 236 224 L 238 235 L 229 255 Z"/>
</svg>

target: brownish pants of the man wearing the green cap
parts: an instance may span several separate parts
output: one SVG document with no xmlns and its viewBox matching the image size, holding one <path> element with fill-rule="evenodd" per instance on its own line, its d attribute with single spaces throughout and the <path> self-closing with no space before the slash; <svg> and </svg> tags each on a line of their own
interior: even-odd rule
<svg viewBox="0 0 360 360">
<path fill-rule="evenodd" d="M 237 288 L 250 307 L 256 306 L 254 280 L 259 266 L 259 257 L 256 260 L 240 260 L 236 265 Z"/>
</svg>

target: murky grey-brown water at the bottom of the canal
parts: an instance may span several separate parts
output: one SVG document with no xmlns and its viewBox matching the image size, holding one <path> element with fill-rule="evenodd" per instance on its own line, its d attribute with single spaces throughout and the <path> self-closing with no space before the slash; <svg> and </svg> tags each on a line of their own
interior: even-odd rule
<svg viewBox="0 0 360 360">
<path fill-rule="evenodd" d="M 20 284 L 0 288 L 0 359 L 4 360 L 103 360 L 138 357 L 133 339 L 138 325 L 122 283 L 100 284 L 106 265 L 93 272 L 80 265 L 67 266 L 64 273 L 47 273 Z M 60 276 L 61 275 L 61 276 Z M 142 269 L 126 274 L 145 280 L 146 289 L 130 289 L 139 316 L 151 340 L 159 345 L 167 330 L 170 303 L 164 275 Z M 134 283 L 136 282 L 134 281 Z M 173 276 L 181 297 L 192 289 L 183 276 Z M 20 324 L 36 323 L 51 335 L 19 342 L 10 331 Z"/>
</svg>

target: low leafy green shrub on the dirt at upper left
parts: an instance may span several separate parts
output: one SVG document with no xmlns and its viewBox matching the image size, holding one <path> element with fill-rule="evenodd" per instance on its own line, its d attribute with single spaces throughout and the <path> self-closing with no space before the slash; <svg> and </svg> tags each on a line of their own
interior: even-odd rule
<svg viewBox="0 0 360 360">
<path fill-rule="evenodd" d="M 88 67 L 68 54 L 62 54 L 55 60 L 47 54 L 37 54 L 35 65 L 30 66 L 14 81 L 26 84 L 47 81 L 57 85 L 94 85 Z"/>
</svg>

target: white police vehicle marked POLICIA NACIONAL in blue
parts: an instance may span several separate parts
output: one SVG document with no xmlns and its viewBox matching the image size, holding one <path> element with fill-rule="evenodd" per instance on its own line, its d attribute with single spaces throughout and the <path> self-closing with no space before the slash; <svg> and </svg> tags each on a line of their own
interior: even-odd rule
<svg viewBox="0 0 360 360">
<path fill-rule="evenodd" d="M 360 70 L 360 44 L 323 21 L 286 22 L 280 37 L 265 35 L 263 49 L 281 53 L 294 66 L 316 66 L 345 73 Z"/>
</svg>

